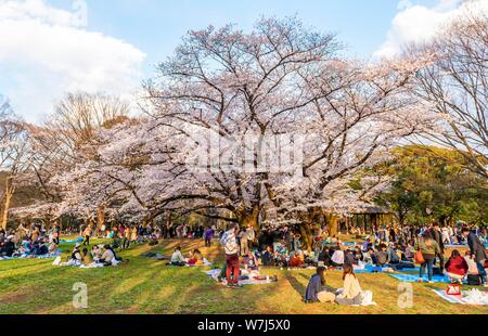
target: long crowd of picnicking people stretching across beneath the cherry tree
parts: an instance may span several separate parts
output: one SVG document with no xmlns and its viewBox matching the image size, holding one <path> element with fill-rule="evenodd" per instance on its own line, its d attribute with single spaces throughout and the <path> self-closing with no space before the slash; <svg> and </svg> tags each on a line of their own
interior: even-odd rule
<svg viewBox="0 0 488 336">
<path fill-rule="evenodd" d="M 77 229 L 66 228 L 63 232 L 56 224 L 33 223 L 27 228 L 20 224 L 15 230 L 0 230 L 0 257 L 31 257 L 50 255 L 57 251 L 60 236 L 79 234 L 84 240 L 76 244 L 67 262 L 89 264 L 93 262 L 112 264 L 117 260 L 115 249 L 129 248 L 131 244 L 159 240 L 197 238 L 205 246 L 211 246 L 219 238 L 226 250 L 226 264 L 222 268 L 230 287 L 239 286 L 240 270 L 257 269 L 258 266 L 280 268 L 342 268 L 354 270 L 374 266 L 394 270 L 414 268 L 420 263 L 419 281 L 433 282 L 435 274 L 446 274 L 452 282 L 467 281 L 470 284 L 486 284 L 486 244 L 487 230 L 465 225 L 375 225 L 370 235 L 361 229 L 351 228 L 361 244 L 343 244 L 336 235 L 330 236 L 326 225 L 322 225 L 313 235 L 311 248 L 304 248 L 304 238 L 298 228 L 264 228 L 257 234 L 252 225 L 240 228 L 231 224 L 228 230 L 216 225 L 202 224 L 113 224 L 101 227 L 87 224 Z M 94 245 L 90 249 L 90 238 L 108 238 L 106 246 Z M 464 256 L 458 249 L 452 250 L 445 260 L 447 246 L 466 244 Z M 198 266 L 208 262 L 198 249 L 183 257 L 177 248 L 170 258 L 174 266 Z M 319 273 L 318 276 L 321 276 Z M 350 276 L 347 276 L 350 280 Z M 321 277 L 321 281 L 323 279 Z M 317 280 L 316 280 L 317 281 Z"/>
</svg>

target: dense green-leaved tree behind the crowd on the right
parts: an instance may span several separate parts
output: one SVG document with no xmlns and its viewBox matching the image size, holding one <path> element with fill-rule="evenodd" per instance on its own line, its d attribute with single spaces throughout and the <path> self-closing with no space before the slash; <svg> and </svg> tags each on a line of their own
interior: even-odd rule
<svg viewBox="0 0 488 336">
<path fill-rule="evenodd" d="M 457 151 L 403 146 L 393 158 L 375 167 L 393 177 L 390 188 L 377 201 L 389 206 L 401 224 L 423 224 L 457 220 L 481 224 L 488 221 L 486 179 L 465 168 L 466 158 Z M 427 211 L 429 209 L 431 211 Z"/>
</svg>

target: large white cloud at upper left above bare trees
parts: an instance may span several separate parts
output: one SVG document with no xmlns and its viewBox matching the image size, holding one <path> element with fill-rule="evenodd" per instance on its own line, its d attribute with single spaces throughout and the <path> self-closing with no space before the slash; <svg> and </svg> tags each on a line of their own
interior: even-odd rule
<svg viewBox="0 0 488 336">
<path fill-rule="evenodd" d="M 48 113 L 66 91 L 128 96 L 139 87 L 145 54 L 80 23 L 43 0 L 0 0 L 0 92 L 27 119 Z"/>
</svg>

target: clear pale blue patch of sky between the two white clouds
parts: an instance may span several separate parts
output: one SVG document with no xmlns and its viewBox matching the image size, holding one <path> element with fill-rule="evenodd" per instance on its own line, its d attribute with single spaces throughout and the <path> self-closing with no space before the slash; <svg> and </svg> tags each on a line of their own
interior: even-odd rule
<svg viewBox="0 0 488 336">
<path fill-rule="evenodd" d="M 50 3 L 72 5 L 69 0 Z M 395 0 L 89 0 L 88 29 L 144 51 L 144 74 L 151 76 L 152 65 L 170 55 L 188 30 L 227 23 L 251 29 L 261 15 L 297 14 L 317 29 L 336 33 L 349 54 L 369 57 L 385 40 L 397 5 Z"/>
</svg>

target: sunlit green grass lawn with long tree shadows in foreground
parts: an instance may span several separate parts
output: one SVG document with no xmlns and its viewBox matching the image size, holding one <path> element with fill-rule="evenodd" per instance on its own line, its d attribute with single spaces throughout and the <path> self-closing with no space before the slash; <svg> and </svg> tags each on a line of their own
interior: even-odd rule
<svg viewBox="0 0 488 336">
<path fill-rule="evenodd" d="M 203 273 L 203 268 L 171 268 L 165 266 L 166 261 L 142 256 L 147 251 L 169 255 L 177 244 L 169 241 L 155 247 L 134 246 L 120 253 L 130 260 L 128 264 L 103 269 L 53 267 L 52 259 L 0 261 L 0 313 L 488 313 L 488 307 L 449 303 L 431 290 L 446 288 L 445 284 L 412 284 L 413 308 L 400 309 L 399 282 L 387 274 L 358 274 L 362 288 L 373 292 L 377 306 L 306 305 L 301 295 L 312 270 L 265 268 L 261 273 L 278 274 L 278 283 L 228 289 Z M 218 246 L 205 248 L 201 242 L 183 243 L 184 251 L 195 247 L 207 259 L 222 261 Z M 329 284 L 341 287 L 341 275 L 338 271 L 329 271 Z M 88 285 L 87 309 L 77 310 L 72 305 L 76 282 Z"/>
</svg>

